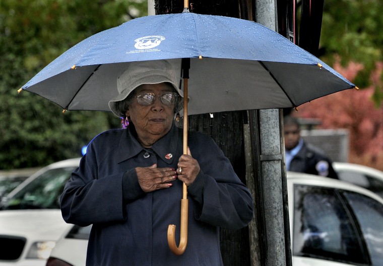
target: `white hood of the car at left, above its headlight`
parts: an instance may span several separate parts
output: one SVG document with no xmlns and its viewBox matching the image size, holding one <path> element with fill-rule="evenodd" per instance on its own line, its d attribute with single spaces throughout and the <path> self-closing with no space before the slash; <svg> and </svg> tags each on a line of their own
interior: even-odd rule
<svg viewBox="0 0 383 266">
<path fill-rule="evenodd" d="M 72 226 L 62 219 L 60 210 L 0 211 L 0 235 L 24 236 L 27 239 L 36 240 L 57 240 Z"/>
</svg>

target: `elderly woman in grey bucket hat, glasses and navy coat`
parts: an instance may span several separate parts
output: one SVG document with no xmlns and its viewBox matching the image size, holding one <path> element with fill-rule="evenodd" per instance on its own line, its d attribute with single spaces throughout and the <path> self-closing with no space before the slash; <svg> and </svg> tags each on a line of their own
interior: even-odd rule
<svg viewBox="0 0 383 266">
<path fill-rule="evenodd" d="M 210 137 L 189 132 L 182 154 L 173 122 L 182 108 L 178 83 L 165 60 L 132 64 L 117 80 L 119 95 L 109 107 L 129 126 L 91 141 L 60 197 L 66 222 L 93 224 L 88 266 L 222 265 L 219 227 L 239 229 L 253 217 L 249 191 Z M 182 182 L 189 233 L 178 256 L 167 227 L 180 223 Z"/>
</svg>

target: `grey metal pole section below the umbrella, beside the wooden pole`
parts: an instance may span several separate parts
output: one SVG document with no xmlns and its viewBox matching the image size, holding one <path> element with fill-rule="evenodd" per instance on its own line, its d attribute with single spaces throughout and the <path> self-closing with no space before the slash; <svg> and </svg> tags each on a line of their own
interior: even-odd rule
<svg viewBox="0 0 383 266">
<path fill-rule="evenodd" d="M 265 266 L 286 265 L 279 110 L 259 111 L 261 184 L 266 235 Z"/>
</svg>

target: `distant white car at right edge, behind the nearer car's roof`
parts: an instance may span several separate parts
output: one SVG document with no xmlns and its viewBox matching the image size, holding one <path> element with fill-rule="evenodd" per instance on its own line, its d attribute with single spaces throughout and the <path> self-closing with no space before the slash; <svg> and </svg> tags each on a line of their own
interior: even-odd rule
<svg viewBox="0 0 383 266">
<path fill-rule="evenodd" d="M 383 198 L 383 172 L 348 162 L 333 162 L 334 170 L 342 181 L 368 189 Z"/>
</svg>

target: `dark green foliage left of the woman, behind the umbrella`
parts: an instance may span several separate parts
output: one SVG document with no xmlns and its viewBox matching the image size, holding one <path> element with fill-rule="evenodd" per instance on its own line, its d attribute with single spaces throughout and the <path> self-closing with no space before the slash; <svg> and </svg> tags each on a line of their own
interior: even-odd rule
<svg viewBox="0 0 383 266">
<path fill-rule="evenodd" d="M 68 111 L 17 90 L 83 39 L 147 14 L 146 1 L 0 2 L 0 169 L 77 157 L 98 133 L 119 128 L 111 113 Z"/>
</svg>

